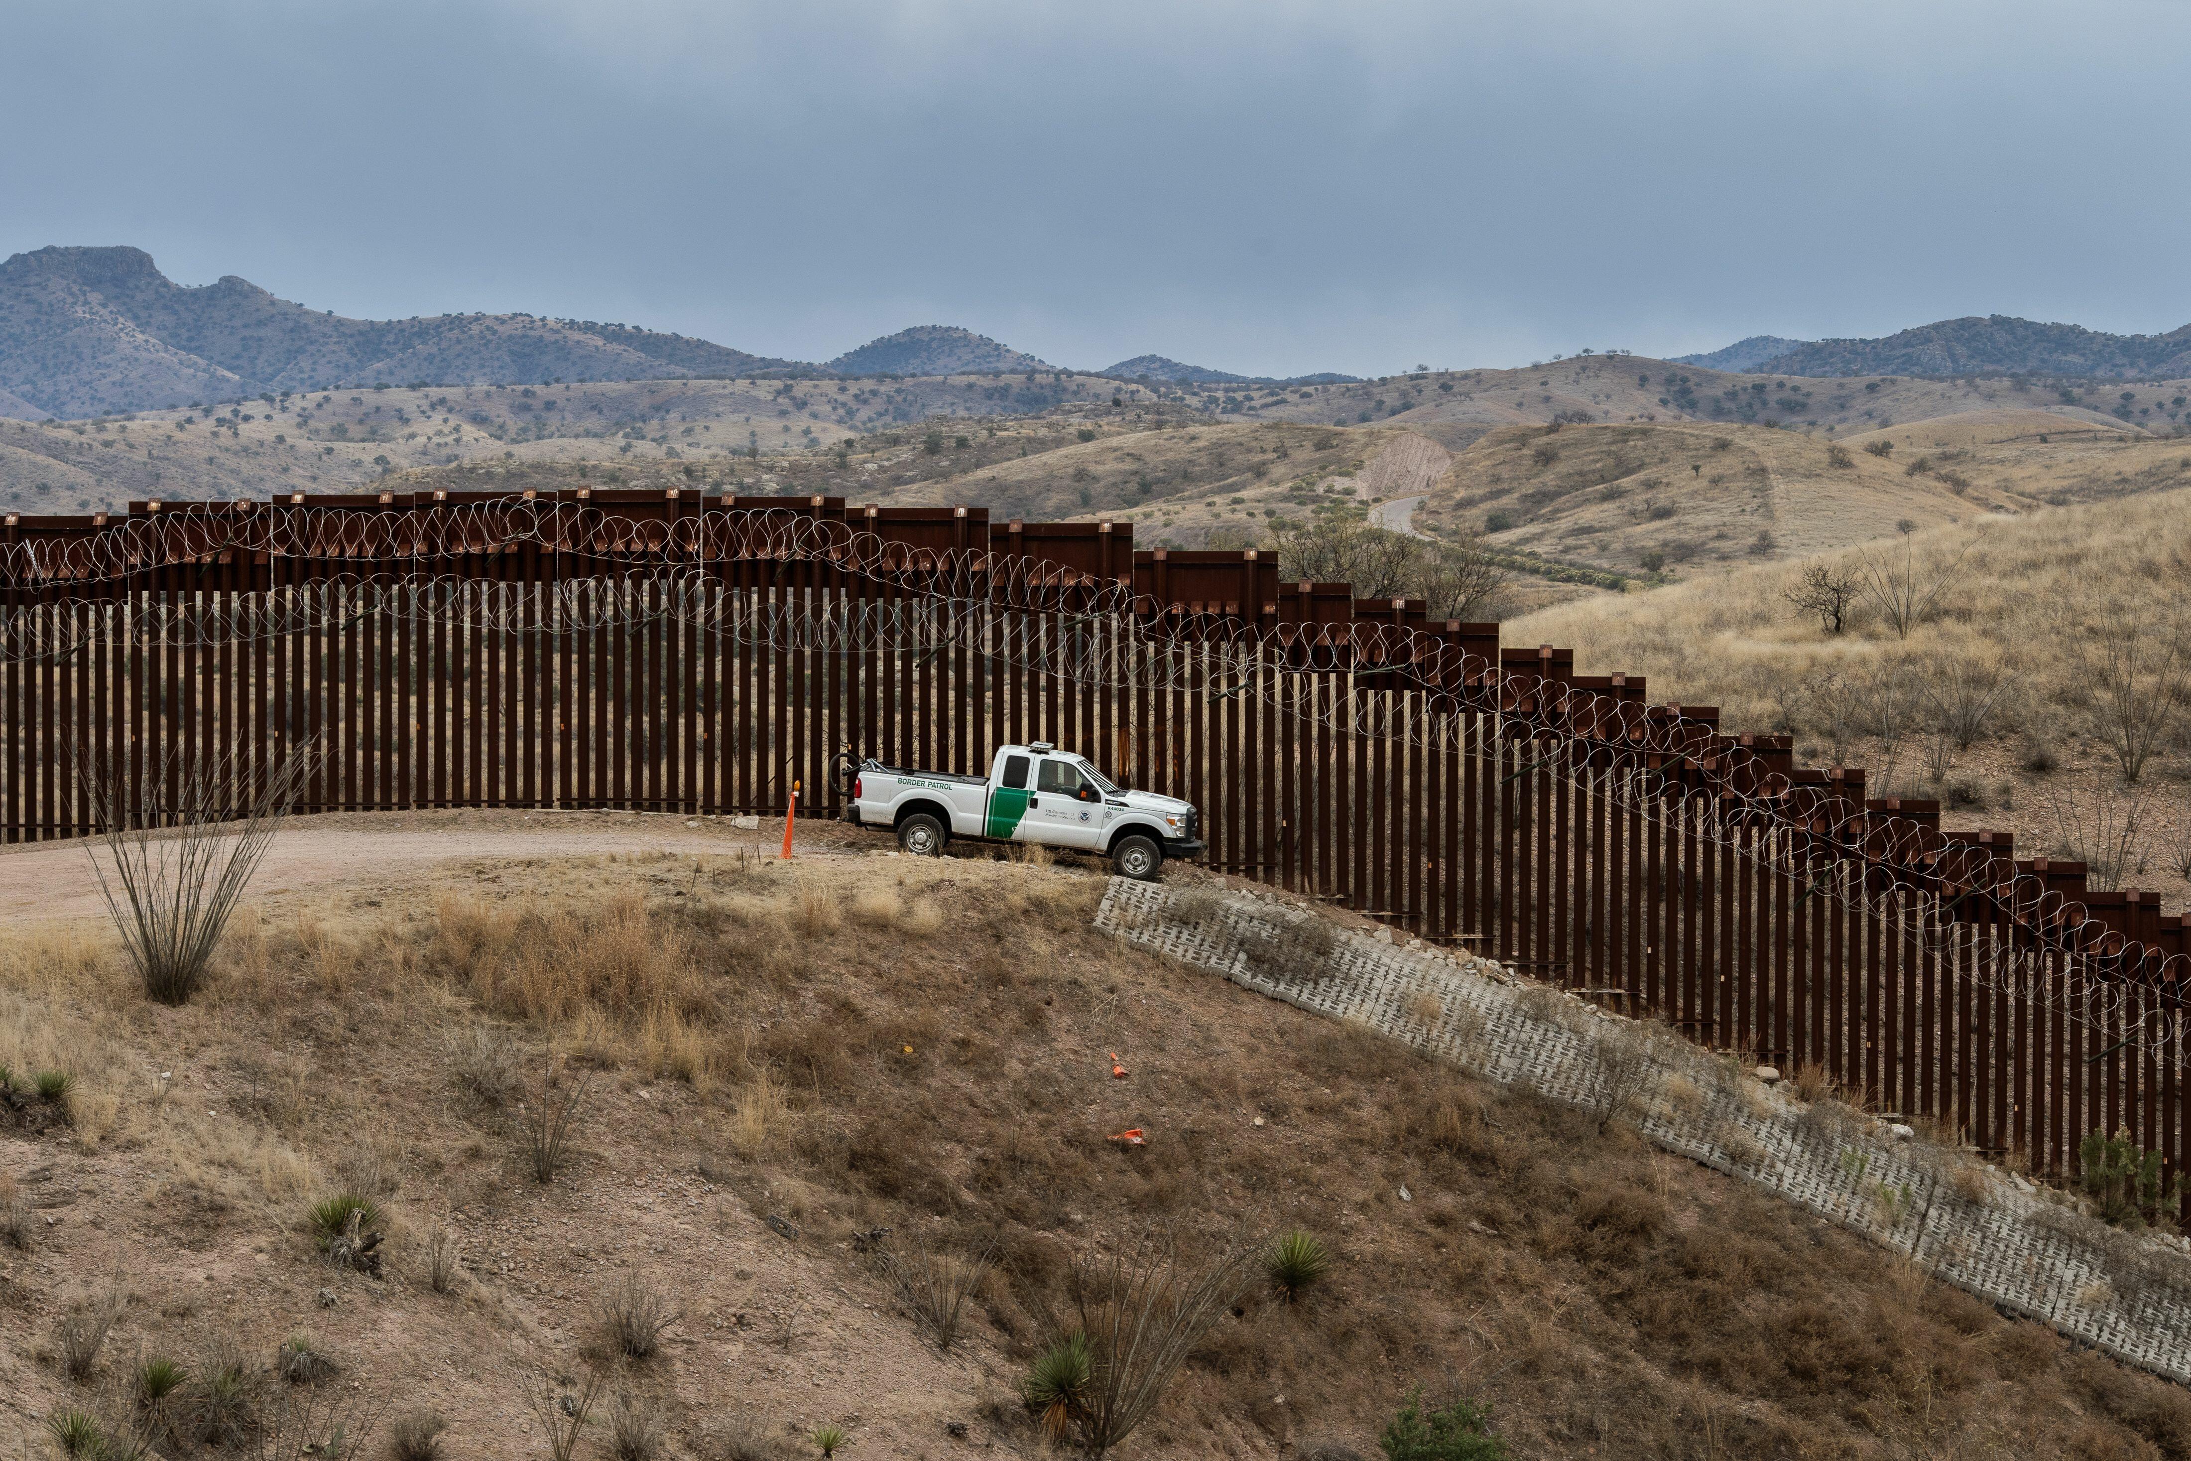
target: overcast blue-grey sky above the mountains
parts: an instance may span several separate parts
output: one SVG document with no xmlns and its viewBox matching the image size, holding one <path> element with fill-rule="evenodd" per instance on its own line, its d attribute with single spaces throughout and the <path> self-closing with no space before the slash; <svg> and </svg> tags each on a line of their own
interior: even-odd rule
<svg viewBox="0 0 2191 1461">
<path fill-rule="evenodd" d="M 0 252 L 800 359 L 2191 320 L 2184 0 L 0 0 Z"/>
</svg>

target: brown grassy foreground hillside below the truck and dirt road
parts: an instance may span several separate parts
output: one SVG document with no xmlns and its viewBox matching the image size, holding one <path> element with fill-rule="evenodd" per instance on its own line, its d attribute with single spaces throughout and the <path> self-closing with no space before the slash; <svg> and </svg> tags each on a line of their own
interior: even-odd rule
<svg viewBox="0 0 2191 1461">
<path fill-rule="evenodd" d="M 2191 1454 L 2176 1387 L 1617 1126 L 1096 935 L 1100 876 L 817 837 L 793 867 L 543 859 L 267 894 L 180 1010 L 92 931 L 13 929 L 0 1058 L 79 1089 L 72 1126 L 0 1135 L 24 1231 L 0 1249 L 0 1415 L 105 1406 L 151 1356 L 206 1376 L 230 1347 L 265 1376 L 302 1338 L 348 1387 L 324 1393 L 438 1411 L 454 1454 L 537 1452 L 524 1376 L 592 1351 L 668 1457 L 813 1454 L 819 1422 L 852 1454 L 1036 1457 L 1014 1384 L 1074 1255 L 1299 1224 L 1328 1279 L 1247 1295 L 1122 1457 L 1369 1452 L 1415 1384 L 1488 1402 L 1521 1459 Z M 521 1130 L 550 1043 L 583 1097 L 539 1185 Z M 1128 1126 L 1144 1148 L 1106 1141 Z M 381 1279 L 311 1238 L 342 1187 L 388 1211 Z M 861 1253 L 876 1229 L 896 1253 L 995 1244 L 957 1351 Z M 72 1382 L 57 1314 L 114 1275 L 121 1321 Z M 675 1312 L 649 1360 L 605 1354 L 596 1319 L 633 1277 Z M 254 1380 L 254 1408 L 278 1387 Z"/>
</svg>

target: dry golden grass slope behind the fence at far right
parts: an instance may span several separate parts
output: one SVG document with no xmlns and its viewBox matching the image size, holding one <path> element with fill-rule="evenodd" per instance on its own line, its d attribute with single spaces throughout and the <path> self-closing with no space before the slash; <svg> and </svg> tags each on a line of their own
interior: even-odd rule
<svg viewBox="0 0 2191 1461">
<path fill-rule="evenodd" d="M 1954 565 L 1952 589 L 1906 635 L 1873 607 L 1827 635 L 1788 602 L 1801 565 L 1783 563 L 1545 609 L 1510 637 L 1573 646 L 1584 675 L 1645 675 L 1656 701 L 1718 705 L 1724 729 L 1790 732 L 1801 762 L 1867 764 L 1871 795 L 1983 802 L 2003 778 L 2011 799 L 2027 799 L 2046 771 L 2014 764 L 2020 738 L 2084 745 L 2092 773 L 2119 775 L 2110 747 L 2154 734 L 2136 701 L 2165 688 L 2165 666 L 2130 664 L 2123 701 L 2092 670 L 2092 646 L 2121 642 L 2125 622 L 2154 644 L 2182 633 L 2191 493 L 1972 515 L 1827 561 L 1904 548 L 1919 578 Z M 2169 714 L 2149 780 L 2184 767 L 2182 708 Z M 2053 828 L 2031 830 L 2066 854 Z"/>
</svg>

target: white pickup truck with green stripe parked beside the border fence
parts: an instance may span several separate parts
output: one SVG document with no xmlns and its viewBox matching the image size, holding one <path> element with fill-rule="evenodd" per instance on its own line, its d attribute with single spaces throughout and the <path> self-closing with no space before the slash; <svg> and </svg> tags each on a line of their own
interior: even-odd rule
<svg viewBox="0 0 2191 1461">
<path fill-rule="evenodd" d="M 1100 852 L 1144 883 L 1155 881 L 1163 859 L 1203 852 L 1192 802 L 1117 786 L 1047 740 L 1001 747 L 988 778 L 863 760 L 844 819 L 896 830 L 914 856 L 940 856 L 953 837 L 1041 841 Z"/>
</svg>

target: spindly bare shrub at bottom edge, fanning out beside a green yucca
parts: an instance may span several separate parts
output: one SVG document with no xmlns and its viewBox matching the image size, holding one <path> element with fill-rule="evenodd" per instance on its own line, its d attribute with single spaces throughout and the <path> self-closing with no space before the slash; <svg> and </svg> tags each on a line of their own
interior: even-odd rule
<svg viewBox="0 0 2191 1461">
<path fill-rule="evenodd" d="M 1188 1354 L 1240 1297 L 1249 1255 L 1234 1246 L 1192 1268 L 1168 1242 L 1144 1242 L 1074 1264 L 1074 1334 L 1087 1341 L 1091 1365 L 1071 1426 L 1091 1457 L 1157 1408 Z"/>
</svg>

